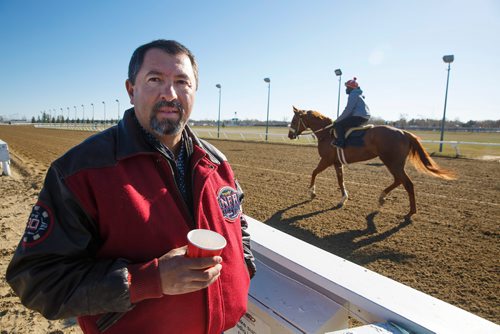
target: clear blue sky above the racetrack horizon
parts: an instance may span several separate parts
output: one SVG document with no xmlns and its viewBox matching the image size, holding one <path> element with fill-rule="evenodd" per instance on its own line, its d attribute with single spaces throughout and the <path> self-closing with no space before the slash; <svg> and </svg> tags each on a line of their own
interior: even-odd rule
<svg viewBox="0 0 500 334">
<path fill-rule="evenodd" d="M 0 0 L 0 115 L 63 108 L 116 118 L 132 52 L 175 39 L 200 65 L 193 119 L 291 120 L 292 105 L 335 118 L 338 77 L 356 76 L 373 116 L 500 119 L 500 1 Z M 341 89 L 340 111 L 346 103 Z"/>
</svg>

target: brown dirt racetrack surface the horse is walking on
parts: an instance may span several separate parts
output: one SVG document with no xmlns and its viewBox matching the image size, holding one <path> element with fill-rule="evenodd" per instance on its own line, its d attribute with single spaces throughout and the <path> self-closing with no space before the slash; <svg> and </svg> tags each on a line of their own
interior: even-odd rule
<svg viewBox="0 0 500 334">
<path fill-rule="evenodd" d="M 79 333 L 74 321 L 49 322 L 25 309 L 4 273 L 52 160 L 91 133 L 0 126 L 13 177 L 0 178 L 1 333 Z M 378 196 L 391 176 L 378 160 L 345 169 L 350 200 L 340 200 L 333 169 L 307 187 L 319 161 L 315 147 L 211 140 L 232 163 L 245 190 L 244 211 L 288 234 L 500 324 L 500 163 L 435 160 L 457 172 L 443 181 L 407 165 L 418 213 L 411 221 L 406 192 L 385 205 Z M 324 264 L 325 266 L 328 263 Z M 369 282 L 367 282 L 369 284 Z"/>
</svg>

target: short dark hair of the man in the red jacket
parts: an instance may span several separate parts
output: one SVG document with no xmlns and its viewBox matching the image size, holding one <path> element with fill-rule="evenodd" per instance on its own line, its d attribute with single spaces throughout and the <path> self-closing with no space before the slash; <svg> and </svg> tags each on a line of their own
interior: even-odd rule
<svg viewBox="0 0 500 334">
<path fill-rule="evenodd" d="M 198 88 L 198 63 L 196 62 L 194 55 L 181 43 L 166 39 L 158 39 L 141 45 L 134 51 L 128 65 L 128 79 L 133 85 L 135 85 L 137 73 L 141 69 L 142 63 L 144 62 L 144 55 L 150 49 L 160 49 L 173 56 L 178 54 L 185 54 L 188 56 L 191 61 L 191 65 L 193 66 L 194 78 L 196 80 L 195 87 Z"/>
</svg>

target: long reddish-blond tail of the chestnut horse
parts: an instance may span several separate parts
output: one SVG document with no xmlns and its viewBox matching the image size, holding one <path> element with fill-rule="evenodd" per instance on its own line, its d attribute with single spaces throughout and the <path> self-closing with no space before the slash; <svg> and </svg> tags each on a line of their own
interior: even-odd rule
<svg viewBox="0 0 500 334">
<path fill-rule="evenodd" d="M 418 140 L 417 136 L 408 131 L 403 130 L 403 132 L 410 140 L 410 161 L 418 171 L 440 177 L 445 180 L 456 179 L 454 172 L 439 167 L 439 165 L 432 160 L 422 146 L 422 143 L 420 143 L 420 140 Z"/>
</svg>

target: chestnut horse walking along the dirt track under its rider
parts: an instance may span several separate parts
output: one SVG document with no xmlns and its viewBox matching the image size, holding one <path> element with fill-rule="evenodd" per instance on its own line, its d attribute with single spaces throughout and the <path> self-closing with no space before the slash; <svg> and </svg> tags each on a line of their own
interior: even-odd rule
<svg viewBox="0 0 500 334">
<path fill-rule="evenodd" d="M 407 158 L 419 172 L 445 180 L 456 178 L 452 171 L 439 167 L 425 151 L 418 137 L 409 131 L 386 125 L 371 126 L 368 129 L 361 130 L 365 131 L 361 143 L 356 146 L 349 145 L 349 137 L 347 137 L 347 146 L 344 149 L 339 149 L 331 144 L 334 138 L 332 135 L 334 122 L 330 118 L 317 111 L 300 110 L 295 106 L 293 112 L 294 116 L 290 124 L 288 138 L 296 139 L 305 130 L 310 129 L 318 140 L 318 152 L 321 160 L 311 175 L 309 185 L 311 199 L 316 196 L 316 176 L 333 165 L 342 194 L 338 206 L 343 207 L 349 198 L 344 185 L 343 164 L 379 157 L 394 177 L 394 182 L 380 194 L 379 205 L 383 205 L 387 195 L 402 184 L 408 193 L 410 201 L 410 211 L 405 216 L 405 218 L 409 219 L 417 212 L 417 207 L 413 182 L 405 172 Z"/>
</svg>

